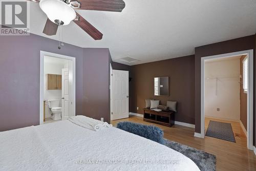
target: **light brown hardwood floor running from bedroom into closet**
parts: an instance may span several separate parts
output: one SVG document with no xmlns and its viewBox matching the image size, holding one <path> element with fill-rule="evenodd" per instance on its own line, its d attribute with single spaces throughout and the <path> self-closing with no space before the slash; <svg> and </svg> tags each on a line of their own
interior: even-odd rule
<svg viewBox="0 0 256 171">
<path fill-rule="evenodd" d="M 217 170 L 256 170 L 256 156 L 246 147 L 246 136 L 243 133 L 240 123 L 223 121 L 218 119 L 205 118 L 205 128 L 207 129 L 209 120 L 231 123 L 236 143 L 220 140 L 212 137 L 194 137 L 195 129 L 180 125 L 167 127 L 155 123 L 144 122 L 142 117 L 131 116 L 130 118 L 112 121 L 115 126 L 120 121 L 131 121 L 143 124 L 153 124 L 164 131 L 164 138 L 176 141 L 201 151 L 214 154 L 217 157 Z"/>
</svg>

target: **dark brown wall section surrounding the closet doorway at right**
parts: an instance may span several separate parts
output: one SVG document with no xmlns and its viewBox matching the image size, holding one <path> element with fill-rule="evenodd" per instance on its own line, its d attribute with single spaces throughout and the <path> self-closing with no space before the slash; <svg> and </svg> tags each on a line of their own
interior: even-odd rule
<svg viewBox="0 0 256 171">
<path fill-rule="evenodd" d="M 201 132 L 201 57 L 225 54 L 231 52 L 238 52 L 244 50 L 254 50 L 254 88 L 253 92 L 255 94 L 255 36 L 250 35 L 246 37 L 231 39 L 227 41 L 218 42 L 216 44 L 205 45 L 201 47 L 195 48 L 195 124 L 196 124 L 196 132 Z M 254 140 L 256 138 L 255 135 L 255 96 L 253 96 L 253 118 L 254 118 Z M 254 144 L 254 142 L 253 142 Z"/>
</svg>

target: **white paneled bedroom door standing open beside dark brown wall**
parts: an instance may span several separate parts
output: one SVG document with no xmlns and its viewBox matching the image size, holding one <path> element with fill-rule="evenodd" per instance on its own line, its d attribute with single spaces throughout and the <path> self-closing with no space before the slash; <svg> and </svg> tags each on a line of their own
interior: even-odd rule
<svg viewBox="0 0 256 171">
<path fill-rule="evenodd" d="M 113 70 L 113 120 L 129 117 L 129 72 Z"/>
</svg>

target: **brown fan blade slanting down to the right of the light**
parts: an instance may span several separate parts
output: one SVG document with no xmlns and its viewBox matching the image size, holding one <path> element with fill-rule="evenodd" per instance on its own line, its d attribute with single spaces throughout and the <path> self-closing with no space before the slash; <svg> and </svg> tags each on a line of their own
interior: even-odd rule
<svg viewBox="0 0 256 171">
<path fill-rule="evenodd" d="M 87 32 L 95 40 L 102 39 L 102 33 L 100 33 L 95 27 L 93 27 L 93 25 L 87 22 L 87 20 L 84 19 L 81 15 L 79 15 L 78 13 L 76 13 L 76 15 L 78 16 L 78 20 L 73 20 L 75 24 L 77 24 L 81 29 Z"/>
</svg>

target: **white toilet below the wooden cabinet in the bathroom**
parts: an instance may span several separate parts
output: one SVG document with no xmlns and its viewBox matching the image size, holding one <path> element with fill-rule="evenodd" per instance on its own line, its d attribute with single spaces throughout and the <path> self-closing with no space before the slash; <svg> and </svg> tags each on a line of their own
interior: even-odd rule
<svg viewBox="0 0 256 171">
<path fill-rule="evenodd" d="M 61 119 L 61 100 L 60 99 L 52 99 L 48 100 L 49 109 L 52 112 L 52 119 L 53 120 L 60 120 Z"/>
</svg>

